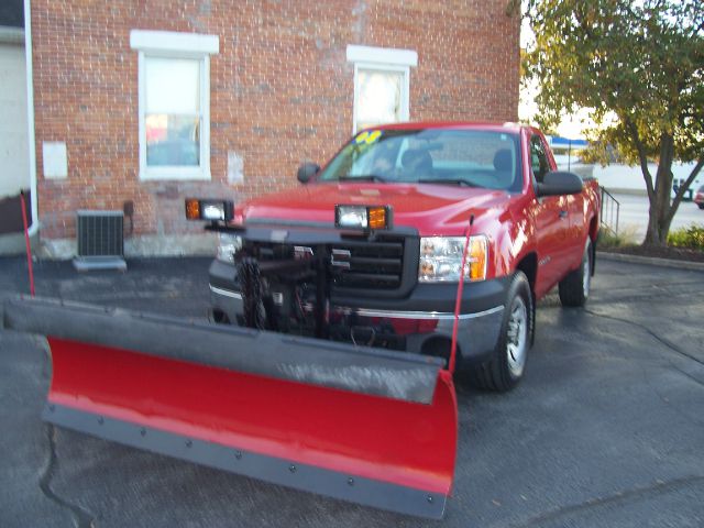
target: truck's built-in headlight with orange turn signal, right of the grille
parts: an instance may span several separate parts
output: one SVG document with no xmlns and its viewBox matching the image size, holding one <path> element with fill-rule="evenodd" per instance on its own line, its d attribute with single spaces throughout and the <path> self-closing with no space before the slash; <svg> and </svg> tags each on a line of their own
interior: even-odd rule
<svg viewBox="0 0 704 528">
<path fill-rule="evenodd" d="M 421 283 L 450 283 L 460 280 L 464 237 L 424 237 L 420 239 L 418 280 Z M 487 241 L 483 234 L 470 237 L 466 255 L 465 280 L 486 278 Z"/>
</svg>

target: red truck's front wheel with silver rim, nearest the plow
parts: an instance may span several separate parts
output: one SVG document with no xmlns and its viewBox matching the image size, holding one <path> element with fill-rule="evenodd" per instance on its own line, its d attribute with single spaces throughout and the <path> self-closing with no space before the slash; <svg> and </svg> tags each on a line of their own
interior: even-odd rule
<svg viewBox="0 0 704 528">
<path fill-rule="evenodd" d="M 534 324 L 530 284 L 522 272 L 516 272 L 508 287 L 498 342 L 488 360 L 469 371 L 472 384 L 501 393 L 514 388 L 524 376 Z"/>
</svg>

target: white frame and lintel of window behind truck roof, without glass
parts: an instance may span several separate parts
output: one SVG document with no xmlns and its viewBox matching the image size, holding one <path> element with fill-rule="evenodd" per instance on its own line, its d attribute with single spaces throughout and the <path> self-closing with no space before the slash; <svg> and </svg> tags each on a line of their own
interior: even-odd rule
<svg viewBox="0 0 704 528">
<path fill-rule="evenodd" d="M 410 119 L 410 68 L 418 66 L 418 53 L 414 50 L 348 45 L 348 63 L 354 64 L 354 102 L 352 106 L 352 134 L 356 134 L 358 101 L 360 100 L 360 69 L 403 74 L 400 120 Z"/>
</svg>

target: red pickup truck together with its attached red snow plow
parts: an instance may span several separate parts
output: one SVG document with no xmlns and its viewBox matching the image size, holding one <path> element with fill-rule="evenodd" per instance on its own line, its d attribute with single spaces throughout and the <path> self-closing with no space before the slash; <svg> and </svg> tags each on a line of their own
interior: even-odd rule
<svg viewBox="0 0 704 528">
<path fill-rule="evenodd" d="M 455 367 L 509 389 L 536 299 L 590 292 L 598 194 L 554 168 L 526 127 L 365 130 L 298 189 L 186 200 L 222 237 L 213 315 L 249 328 L 38 298 L 8 299 L 2 324 L 47 337 L 52 424 L 440 518 Z"/>
</svg>

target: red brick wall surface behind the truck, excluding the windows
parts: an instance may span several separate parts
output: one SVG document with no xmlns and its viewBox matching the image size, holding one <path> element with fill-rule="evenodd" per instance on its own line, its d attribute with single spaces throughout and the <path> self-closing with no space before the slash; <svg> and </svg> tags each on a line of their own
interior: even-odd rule
<svg viewBox="0 0 704 528">
<path fill-rule="evenodd" d="M 297 185 L 352 132 L 348 44 L 410 48 L 410 118 L 517 119 L 519 21 L 507 0 L 33 0 L 42 237 L 75 237 L 76 209 L 134 202 L 134 234 L 177 234 L 185 195 L 242 199 Z M 140 182 L 138 52 L 130 31 L 216 34 L 209 183 Z M 64 141 L 68 178 L 45 179 L 42 143 Z M 244 184 L 228 185 L 228 152 Z"/>
</svg>

